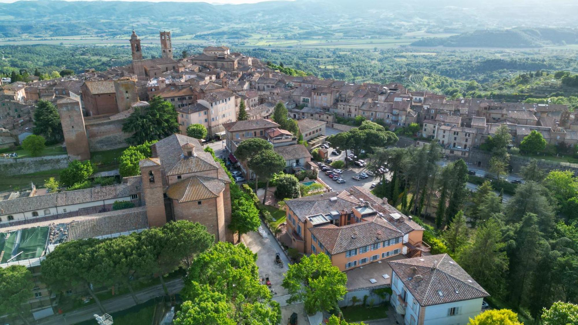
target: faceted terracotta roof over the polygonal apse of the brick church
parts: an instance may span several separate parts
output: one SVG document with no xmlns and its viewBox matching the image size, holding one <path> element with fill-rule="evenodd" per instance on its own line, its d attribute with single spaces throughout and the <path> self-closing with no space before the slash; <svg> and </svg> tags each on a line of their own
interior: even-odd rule
<svg viewBox="0 0 578 325">
<path fill-rule="evenodd" d="M 191 176 L 172 184 L 166 195 L 179 203 L 216 198 L 225 190 L 223 180 L 201 176 Z"/>
</svg>

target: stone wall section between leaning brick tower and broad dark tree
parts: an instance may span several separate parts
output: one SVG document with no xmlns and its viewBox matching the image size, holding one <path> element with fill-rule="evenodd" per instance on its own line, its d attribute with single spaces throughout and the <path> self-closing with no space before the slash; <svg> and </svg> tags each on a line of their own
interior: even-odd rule
<svg viewBox="0 0 578 325">
<path fill-rule="evenodd" d="M 130 134 L 123 132 L 124 119 L 90 123 L 85 120 L 88 146 L 91 152 L 127 147 Z"/>
</svg>

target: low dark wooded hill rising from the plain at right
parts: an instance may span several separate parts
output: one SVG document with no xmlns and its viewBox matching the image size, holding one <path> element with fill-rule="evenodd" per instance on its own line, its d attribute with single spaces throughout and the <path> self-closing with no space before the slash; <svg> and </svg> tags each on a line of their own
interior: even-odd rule
<svg viewBox="0 0 578 325">
<path fill-rule="evenodd" d="M 578 44 L 578 29 L 512 28 L 474 31 L 447 38 L 427 38 L 413 46 L 446 47 L 544 47 Z"/>
</svg>

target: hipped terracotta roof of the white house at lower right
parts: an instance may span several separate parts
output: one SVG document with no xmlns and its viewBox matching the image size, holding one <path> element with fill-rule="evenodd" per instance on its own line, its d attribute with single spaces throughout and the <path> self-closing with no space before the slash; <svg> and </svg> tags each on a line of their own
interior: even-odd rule
<svg viewBox="0 0 578 325">
<path fill-rule="evenodd" d="M 448 254 L 387 263 L 421 306 L 490 296 Z"/>
</svg>

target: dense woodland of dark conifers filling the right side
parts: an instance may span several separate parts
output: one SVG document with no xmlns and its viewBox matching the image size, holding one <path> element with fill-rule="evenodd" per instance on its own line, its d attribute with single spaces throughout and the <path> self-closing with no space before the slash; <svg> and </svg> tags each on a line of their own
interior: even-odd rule
<svg viewBox="0 0 578 325">
<path fill-rule="evenodd" d="M 492 140 L 494 161 L 509 159 L 503 138 Z M 465 162 L 440 167 L 440 157 L 436 144 L 376 148 L 370 168 L 387 165 L 393 175 L 375 194 L 428 218 L 414 220 L 425 228 L 432 253 L 453 256 L 497 307 L 539 320 L 556 301 L 578 303 L 578 178 L 568 171 L 546 173 L 532 161 L 521 171 L 525 182 L 504 202 L 494 182 L 468 191 Z M 498 162 L 492 168 L 505 173 Z"/>
</svg>

